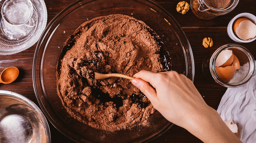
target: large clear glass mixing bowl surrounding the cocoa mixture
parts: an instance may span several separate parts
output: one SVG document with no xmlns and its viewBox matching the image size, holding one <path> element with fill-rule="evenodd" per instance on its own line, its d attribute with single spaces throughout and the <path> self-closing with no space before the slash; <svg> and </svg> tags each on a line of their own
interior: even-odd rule
<svg viewBox="0 0 256 143">
<path fill-rule="evenodd" d="M 156 111 L 144 122 L 115 132 L 92 128 L 67 113 L 56 91 L 56 65 L 66 39 L 85 21 L 98 16 L 124 14 L 145 22 L 158 33 L 170 53 L 172 70 L 194 80 L 190 44 L 175 19 L 148 0 L 78 0 L 48 24 L 38 41 L 33 61 L 33 86 L 42 111 L 64 135 L 77 142 L 147 142 L 167 131 L 172 123 Z"/>
</svg>

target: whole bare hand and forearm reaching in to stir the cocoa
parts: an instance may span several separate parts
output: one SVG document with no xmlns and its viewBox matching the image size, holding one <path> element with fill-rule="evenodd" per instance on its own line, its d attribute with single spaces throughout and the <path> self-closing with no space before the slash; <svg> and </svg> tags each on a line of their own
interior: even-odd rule
<svg viewBox="0 0 256 143">
<path fill-rule="evenodd" d="M 163 117 L 187 129 L 203 142 L 241 142 L 218 112 L 204 102 L 193 82 L 185 75 L 176 71 L 140 71 L 133 77 L 136 79 L 132 84 L 147 96 Z"/>
</svg>

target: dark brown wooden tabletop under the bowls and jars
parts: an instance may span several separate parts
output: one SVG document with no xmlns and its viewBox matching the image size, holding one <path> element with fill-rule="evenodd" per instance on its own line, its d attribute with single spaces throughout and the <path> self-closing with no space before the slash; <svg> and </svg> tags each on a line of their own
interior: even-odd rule
<svg viewBox="0 0 256 143">
<path fill-rule="evenodd" d="M 49 23 L 53 17 L 63 8 L 73 3 L 75 0 L 45 0 L 47 7 Z M 190 9 L 185 15 L 176 11 L 176 5 L 180 0 L 155 0 L 162 8 L 167 10 L 183 28 L 192 47 L 195 61 L 195 79 L 194 84 L 203 96 L 205 102 L 217 110 L 223 94 L 226 91 L 225 87 L 208 81 L 202 71 L 202 62 L 204 57 L 215 51 L 218 47 L 237 43 L 231 40 L 227 35 L 227 25 L 229 21 L 237 14 L 249 12 L 256 15 L 256 1 L 246 0 L 239 1 L 237 7 L 228 14 L 219 16 L 213 20 L 205 21 L 197 18 Z M 189 2 L 187 0 L 187 2 Z M 213 47 L 204 48 L 202 40 L 204 37 L 211 37 L 214 40 Z M 254 58 L 256 58 L 256 40 L 250 43 L 237 43 L 246 47 Z M 0 55 L 0 71 L 5 68 L 15 66 L 20 70 L 19 77 L 11 84 L 0 84 L 1 90 L 10 90 L 22 94 L 34 103 L 37 103 L 33 85 L 32 85 L 32 63 L 36 44 L 29 49 L 13 55 Z M 59 133 L 49 122 L 52 142 L 73 142 L 66 136 Z M 173 125 L 163 135 L 151 141 L 152 143 L 159 142 L 201 142 L 197 137 L 190 134 L 185 129 Z"/>
</svg>

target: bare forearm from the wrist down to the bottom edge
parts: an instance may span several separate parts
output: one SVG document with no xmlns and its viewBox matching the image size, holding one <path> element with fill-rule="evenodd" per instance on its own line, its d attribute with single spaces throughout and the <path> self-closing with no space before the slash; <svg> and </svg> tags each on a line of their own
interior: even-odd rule
<svg viewBox="0 0 256 143">
<path fill-rule="evenodd" d="M 203 142 L 241 142 L 209 106 L 192 118 L 187 130 Z"/>
</svg>

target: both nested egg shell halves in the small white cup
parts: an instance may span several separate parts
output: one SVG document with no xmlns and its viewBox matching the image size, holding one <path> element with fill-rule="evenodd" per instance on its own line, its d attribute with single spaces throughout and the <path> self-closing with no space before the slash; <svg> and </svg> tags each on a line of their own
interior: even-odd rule
<svg viewBox="0 0 256 143">
<path fill-rule="evenodd" d="M 247 18 L 235 20 L 233 31 L 242 40 L 250 40 L 256 37 L 256 25 Z"/>
</svg>

